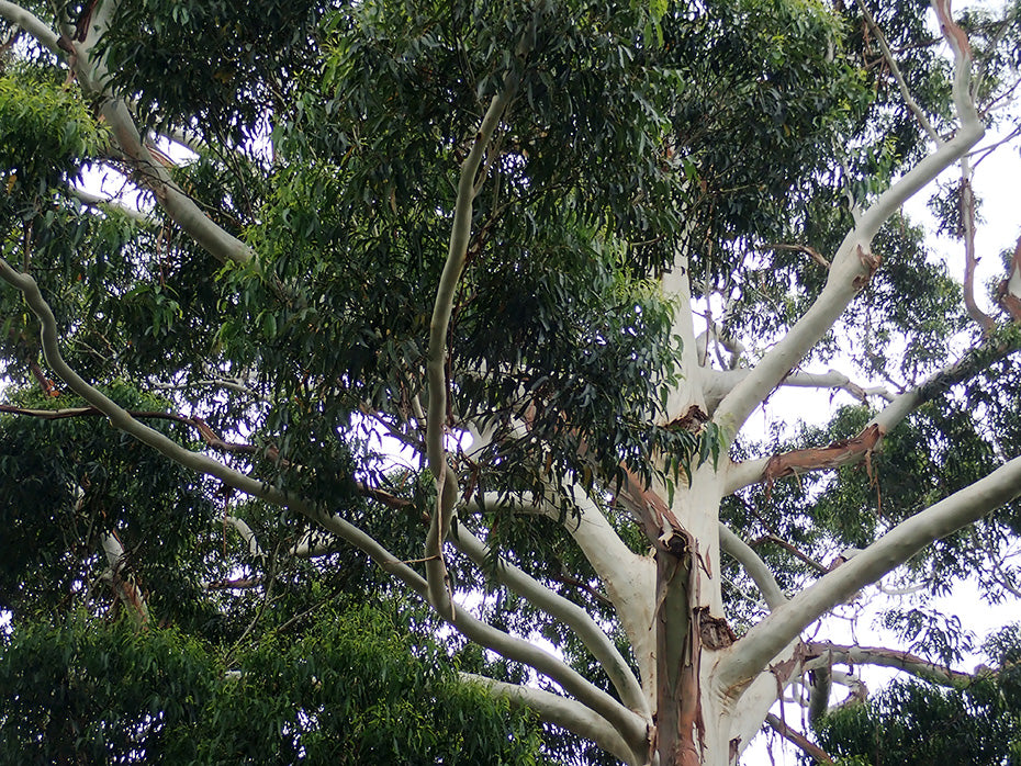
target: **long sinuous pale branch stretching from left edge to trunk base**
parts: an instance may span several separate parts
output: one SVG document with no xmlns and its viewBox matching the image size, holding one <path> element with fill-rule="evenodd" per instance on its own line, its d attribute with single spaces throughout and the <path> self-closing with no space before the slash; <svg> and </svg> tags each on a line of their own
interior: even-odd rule
<svg viewBox="0 0 1021 766">
<path fill-rule="evenodd" d="M 0 259 L 0 279 L 22 292 L 29 307 L 38 318 L 42 328 L 43 354 L 51 369 L 64 380 L 68 388 L 102 412 L 114 428 L 153 447 L 184 468 L 214 476 L 239 492 L 277 506 L 290 508 L 307 517 L 366 553 L 380 568 L 400 579 L 419 596 L 428 597 L 429 586 L 425 578 L 394 556 L 379 541 L 346 519 L 328 512 L 294 493 L 278 489 L 266 482 L 248 476 L 240 471 L 235 471 L 207 455 L 184 449 L 172 439 L 133 418 L 123 407 L 87 383 L 64 360 L 57 338 L 56 318 L 49 305 L 43 298 L 35 280 L 27 274 L 19 273 L 3 259 Z M 463 609 L 456 611 L 451 609 L 449 611 L 449 615 L 441 613 L 441 616 L 451 622 L 465 638 L 493 650 L 508 660 L 524 663 L 549 676 L 583 705 L 609 721 L 632 748 L 639 750 L 644 745 L 644 720 L 625 708 L 610 695 L 595 687 L 565 663 L 523 639 L 513 637 L 478 620 Z"/>
</svg>

